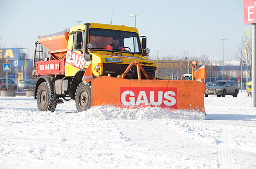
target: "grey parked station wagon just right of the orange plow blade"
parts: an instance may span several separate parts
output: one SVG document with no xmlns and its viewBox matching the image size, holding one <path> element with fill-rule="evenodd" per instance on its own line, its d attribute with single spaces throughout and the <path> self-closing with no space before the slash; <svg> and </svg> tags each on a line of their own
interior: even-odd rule
<svg viewBox="0 0 256 169">
<path fill-rule="evenodd" d="M 237 97 L 239 93 L 239 86 L 235 81 L 216 81 L 209 86 L 205 87 L 205 96 L 209 94 L 217 95 L 218 97 L 225 95 L 233 95 Z"/>
</svg>

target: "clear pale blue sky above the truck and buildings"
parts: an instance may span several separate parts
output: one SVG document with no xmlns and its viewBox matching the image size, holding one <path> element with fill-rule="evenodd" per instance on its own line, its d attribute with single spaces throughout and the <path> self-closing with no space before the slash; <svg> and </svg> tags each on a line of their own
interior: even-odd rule
<svg viewBox="0 0 256 169">
<path fill-rule="evenodd" d="M 62 31 L 76 21 L 134 26 L 147 37 L 150 57 L 206 54 L 231 59 L 245 37 L 244 0 L 1 0 L 0 36 L 5 48 L 30 49 L 37 36 Z M 243 39 L 244 41 L 244 39 Z M 233 59 L 234 60 L 234 59 Z"/>
</svg>

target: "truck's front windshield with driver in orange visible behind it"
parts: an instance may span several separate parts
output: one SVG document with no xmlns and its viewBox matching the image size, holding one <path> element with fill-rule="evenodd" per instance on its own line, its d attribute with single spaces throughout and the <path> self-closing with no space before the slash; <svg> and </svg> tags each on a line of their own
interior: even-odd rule
<svg viewBox="0 0 256 169">
<path fill-rule="evenodd" d="M 91 50 L 142 53 L 138 34 L 134 32 L 90 28 L 89 43 L 93 45 Z"/>
</svg>

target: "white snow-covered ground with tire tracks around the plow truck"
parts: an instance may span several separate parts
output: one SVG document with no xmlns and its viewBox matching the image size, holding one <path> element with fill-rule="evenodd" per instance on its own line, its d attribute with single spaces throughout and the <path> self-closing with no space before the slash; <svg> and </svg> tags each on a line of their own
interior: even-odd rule
<svg viewBox="0 0 256 169">
<path fill-rule="evenodd" d="M 256 169 L 252 98 L 205 97 L 202 113 L 93 107 L 39 112 L 0 97 L 0 169 Z"/>
</svg>

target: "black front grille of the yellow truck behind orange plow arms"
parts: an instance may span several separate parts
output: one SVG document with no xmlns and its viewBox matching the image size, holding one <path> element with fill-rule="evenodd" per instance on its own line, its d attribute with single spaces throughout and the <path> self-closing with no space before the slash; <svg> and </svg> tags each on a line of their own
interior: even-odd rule
<svg viewBox="0 0 256 169">
<path fill-rule="evenodd" d="M 104 63 L 103 64 L 103 76 L 108 76 L 111 74 L 112 77 L 117 77 L 124 73 L 129 65 L 127 64 L 114 64 L 114 63 Z M 145 72 L 151 77 L 155 76 L 155 67 L 153 66 L 142 66 Z M 141 79 L 146 79 L 144 74 L 140 72 Z M 138 79 L 136 65 L 132 65 L 131 71 L 125 76 L 125 79 Z"/>
</svg>

